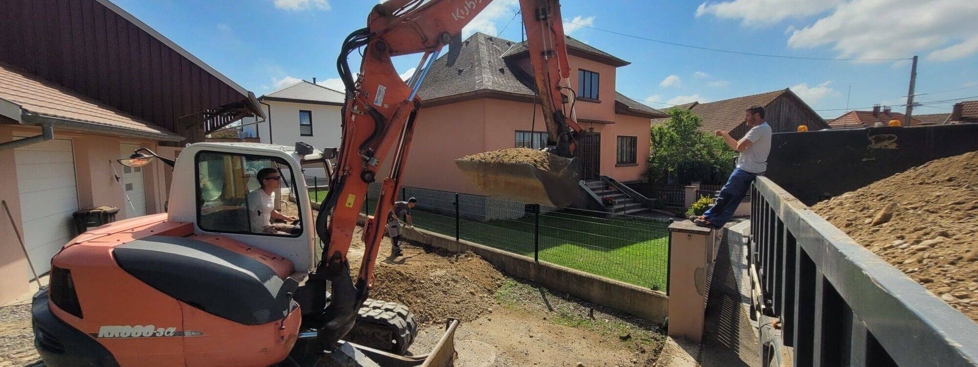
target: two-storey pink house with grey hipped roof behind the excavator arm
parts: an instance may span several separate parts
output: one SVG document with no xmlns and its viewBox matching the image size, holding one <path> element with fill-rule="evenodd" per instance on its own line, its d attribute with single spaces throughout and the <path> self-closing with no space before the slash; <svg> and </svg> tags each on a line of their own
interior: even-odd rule
<svg viewBox="0 0 978 367">
<path fill-rule="evenodd" d="M 596 172 L 620 182 L 643 179 L 648 126 L 666 116 L 615 91 L 617 68 L 628 62 L 567 37 L 570 85 L 577 121 L 589 131 L 579 157 L 587 180 Z M 539 148 L 546 141 L 540 108 L 534 117 L 534 83 L 523 43 L 475 33 L 463 42 L 454 66 L 435 61 L 419 95 L 414 142 L 404 185 L 484 195 L 468 182 L 454 160 L 513 147 Z M 568 97 L 573 97 L 573 93 Z M 570 105 L 568 105 L 568 109 Z"/>
</svg>

